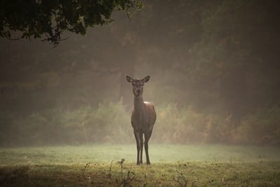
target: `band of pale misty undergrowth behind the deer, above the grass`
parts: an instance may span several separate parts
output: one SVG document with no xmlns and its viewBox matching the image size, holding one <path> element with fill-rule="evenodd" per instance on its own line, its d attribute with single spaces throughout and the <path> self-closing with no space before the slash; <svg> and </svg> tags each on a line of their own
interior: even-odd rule
<svg viewBox="0 0 280 187">
<path fill-rule="evenodd" d="M 151 142 L 158 144 L 242 144 L 280 146 L 280 107 L 256 109 L 237 127 L 230 113 L 201 113 L 175 103 L 156 106 Z M 24 118 L 0 113 L 1 146 L 134 143 L 130 112 L 120 102 L 49 109 Z"/>
</svg>

